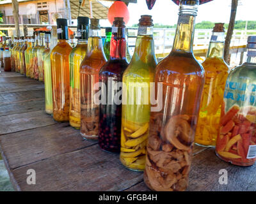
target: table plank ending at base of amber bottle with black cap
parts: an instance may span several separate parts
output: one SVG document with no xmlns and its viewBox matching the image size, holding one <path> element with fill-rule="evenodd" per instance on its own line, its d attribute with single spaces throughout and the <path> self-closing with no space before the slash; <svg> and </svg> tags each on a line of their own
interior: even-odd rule
<svg viewBox="0 0 256 204">
<path fill-rule="evenodd" d="M 56 124 L 51 115 L 42 110 L 1 116 L 0 121 L 0 135 Z"/>
</svg>

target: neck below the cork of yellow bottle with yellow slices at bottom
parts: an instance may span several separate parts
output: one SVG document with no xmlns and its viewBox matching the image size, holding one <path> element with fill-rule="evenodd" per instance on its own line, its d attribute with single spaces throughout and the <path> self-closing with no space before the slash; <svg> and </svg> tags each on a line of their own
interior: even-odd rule
<svg viewBox="0 0 256 204">
<path fill-rule="evenodd" d="M 153 27 L 140 26 L 138 29 L 138 36 L 134 49 L 132 60 L 148 61 L 156 60 L 154 40 L 153 40 Z"/>
</svg>

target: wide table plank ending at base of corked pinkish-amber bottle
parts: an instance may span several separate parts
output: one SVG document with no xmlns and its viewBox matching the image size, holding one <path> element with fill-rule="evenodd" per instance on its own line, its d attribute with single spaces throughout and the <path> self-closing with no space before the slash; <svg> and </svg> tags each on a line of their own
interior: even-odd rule
<svg viewBox="0 0 256 204">
<path fill-rule="evenodd" d="M 10 169 L 96 143 L 97 141 L 83 140 L 79 130 L 71 128 L 68 123 L 0 136 L 1 150 Z"/>
</svg>

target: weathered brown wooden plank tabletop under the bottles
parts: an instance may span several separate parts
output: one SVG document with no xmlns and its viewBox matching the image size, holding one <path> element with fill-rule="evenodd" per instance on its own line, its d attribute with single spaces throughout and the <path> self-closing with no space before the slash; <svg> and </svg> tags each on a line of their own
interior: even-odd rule
<svg viewBox="0 0 256 204">
<path fill-rule="evenodd" d="M 143 173 L 124 168 L 118 154 L 83 140 L 79 130 L 44 112 L 44 84 L 0 73 L 0 148 L 17 191 L 148 191 Z M 27 184 L 27 171 L 36 184 Z M 221 169 L 228 184 L 220 184 Z M 188 191 L 256 191 L 256 168 L 233 166 L 213 148 L 195 146 Z"/>
</svg>

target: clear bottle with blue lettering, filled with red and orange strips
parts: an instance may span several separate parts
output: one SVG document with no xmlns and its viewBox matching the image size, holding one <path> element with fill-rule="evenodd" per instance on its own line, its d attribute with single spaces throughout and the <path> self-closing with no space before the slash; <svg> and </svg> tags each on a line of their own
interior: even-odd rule
<svg viewBox="0 0 256 204">
<path fill-rule="evenodd" d="M 247 61 L 230 71 L 223 99 L 216 154 L 251 166 L 256 160 L 256 36 L 248 37 Z"/>
</svg>

